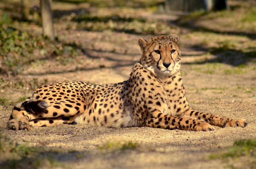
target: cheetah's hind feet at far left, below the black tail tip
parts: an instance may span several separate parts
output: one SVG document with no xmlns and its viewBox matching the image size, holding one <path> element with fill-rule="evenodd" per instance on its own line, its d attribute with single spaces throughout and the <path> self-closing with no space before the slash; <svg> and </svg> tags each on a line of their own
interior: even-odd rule
<svg viewBox="0 0 256 169">
<path fill-rule="evenodd" d="M 28 119 L 24 116 L 27 112 L 25 110 L 13 110 L 7 123 L 8 130 L 31 130 Z"/>
</svg>

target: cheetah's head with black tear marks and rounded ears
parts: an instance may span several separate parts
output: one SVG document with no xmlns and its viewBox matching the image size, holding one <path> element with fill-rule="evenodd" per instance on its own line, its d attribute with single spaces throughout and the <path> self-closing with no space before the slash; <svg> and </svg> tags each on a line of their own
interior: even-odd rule
<svg viewBox="0 0 256 169">
<path fill-rule="evenodd" d="M 140 63 L 158 78 L 167 78 L 180 69 L 180 43 L 176 34 L 159 36 L 146 41 L 139 39 Z"/>
</svg>

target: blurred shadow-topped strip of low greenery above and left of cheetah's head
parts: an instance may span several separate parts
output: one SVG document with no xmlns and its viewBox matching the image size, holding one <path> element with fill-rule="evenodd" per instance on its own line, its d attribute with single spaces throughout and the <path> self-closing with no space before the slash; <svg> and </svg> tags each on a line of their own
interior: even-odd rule
<svg viewBox="0 0 256 169">
<path fill-rule="evenodd" d="M 161 20 L 116 14 L 112 16 L 75 15 L 72 20 L 78 22 L 78 29 L 87 31 L 109 30 L 136 34 L 169 34 L 173 29 Z"/>
</svg>

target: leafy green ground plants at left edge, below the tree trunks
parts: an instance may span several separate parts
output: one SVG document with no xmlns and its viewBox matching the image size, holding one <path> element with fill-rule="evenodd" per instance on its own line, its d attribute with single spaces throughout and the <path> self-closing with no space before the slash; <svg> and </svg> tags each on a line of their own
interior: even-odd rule
<svg viewBox="0 0 256 169">
<path fill-rule="evenodd" d="M 50 41 L 41 34 L 27 31 L 28 23 L 14 22 L 7 14 L 0 14 L 0 59 L 2 69 L 20 74 L 26 65 L 40 60 L 54 60 L 56 63 L 65 64 L 67 59 L 73 59 L 82 54 L 75 43 Z M 23 28 L 23 29 L 21 29 Z M 69 63 L 69 62 L 68 62 Z"/>
</svg>

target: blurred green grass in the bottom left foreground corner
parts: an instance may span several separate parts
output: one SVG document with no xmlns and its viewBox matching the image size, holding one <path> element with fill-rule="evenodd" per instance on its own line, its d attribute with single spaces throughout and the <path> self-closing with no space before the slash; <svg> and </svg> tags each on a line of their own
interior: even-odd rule
<svg viewBox="0 0 256 169">
<path fill-rule="evenodd" d="M 56 155 L 74 155 L 78 158 L 81 152 L 60 148 L 33 147 L 28 143 L 18 144 L 15 140 L 10 140 L 4 135 L 0 135 L 0 164 L 1 168 L 52 168 L 63 164 L 59 162 Z"/>
</svg>

